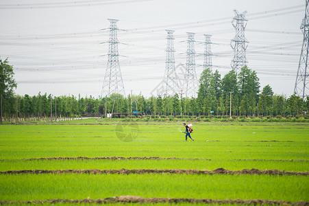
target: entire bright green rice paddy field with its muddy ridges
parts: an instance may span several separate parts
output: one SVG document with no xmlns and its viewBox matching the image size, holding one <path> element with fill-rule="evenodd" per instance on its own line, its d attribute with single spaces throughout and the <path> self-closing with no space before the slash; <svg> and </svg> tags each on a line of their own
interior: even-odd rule
<svg viewBox="0 0 309 206">
<path fill-rule="evenodd" d="M 0 203 L 309 205 L 309 124 L 83 119 L 0 126 Z"/>
</svg>

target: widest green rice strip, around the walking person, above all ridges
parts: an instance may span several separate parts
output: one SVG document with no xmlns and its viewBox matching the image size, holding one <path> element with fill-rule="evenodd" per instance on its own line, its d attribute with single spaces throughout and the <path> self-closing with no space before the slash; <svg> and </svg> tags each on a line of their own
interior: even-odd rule
<svg viewBox="0 0 309 206">
<path fill-rule="evenodd" d="M 183 126 L 182 126 L 183 127 Z M 308 130 L 299 124 L 197 124 L 195 141 L 179 125 L 138 125 L 121 141 L 116 125 L 4 125 L 0 159 L 40 157 L 180 157 L 206 159 L 308 159 Z"/>
</svg>

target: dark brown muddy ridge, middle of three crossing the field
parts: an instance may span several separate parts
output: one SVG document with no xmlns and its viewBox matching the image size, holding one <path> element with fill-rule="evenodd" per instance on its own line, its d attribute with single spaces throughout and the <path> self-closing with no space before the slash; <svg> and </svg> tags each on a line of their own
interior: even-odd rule
<svg viewBox="0 0 309 206">
<path fill-rule="evenodd" d="M 10 170 L 0 174 L 269 174 L 308 176 L 309 172 L 288 172 L 281 170 Z"/>
</svg>

